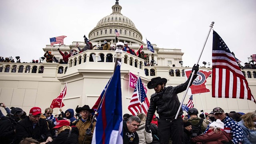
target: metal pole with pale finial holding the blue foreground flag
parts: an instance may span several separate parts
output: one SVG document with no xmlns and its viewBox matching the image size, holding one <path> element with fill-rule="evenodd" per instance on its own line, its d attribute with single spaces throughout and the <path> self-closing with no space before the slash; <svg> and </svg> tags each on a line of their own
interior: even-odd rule
<svg viewBox="0 0 256 144">
<path fill-rule="evenodd" d="M 124 43 L 122 43 L 122 42 L 118 42 L 118 43 L 116 44 L 116 51 L 115 51 L 115 52 L 116 52 L 116 62 L 115 62 L 114 72 L 116 71 L 116 66 L 117 66 L 118 62 L 121 62 L 121 61 L 122 61 L 123 47 L 124 47 Z M 114 74 L 114 72 L 113 72 L 113 74 Z M 111 76 L 111 78 L 110 78 L 109 83 L 110 83 L 111 80 L 112 80 L 113 74 L 112 74 L 112 76 Z M 108 86 L 109 86 L 109 83 L 108 83 Z M 97 108 L 97 110 L 96 110 L 94 116 L 92 117 L 92 121 L 91 121 L 91 124 L 90 124 L 89 128 L 92 128 L 92 124 L 93 124 L 93 122 L 94 122 L 94 118 L 95 118 L 96 114 L 98 114 L 98 110 L 100 109 L 100 106 L 101 106 L 101 104 L 102 104 L 102 102 L 103 102 L 103 100 L 104 100 L 104 98 L 105 98 L 105 96 L 106 96 L 106 92 L 107 92 L 107 90 L 108 90 L 108 86 L 106 87 L 106 90 L 105 90 L 105 92 L 104 92 L 104 94 L 103 94 L 103 96 L 102 96 L 102 98 L 101 98 L 101 100 L 100 100 L 100 104 L 98 105 L 98 108 Z M 83 143 L 82 143 L 82 144 L 84 144 L 86 137 L 87 137 L 87 134 L 85 134 L 84 140 L 83 140 Z"/>
</svg>

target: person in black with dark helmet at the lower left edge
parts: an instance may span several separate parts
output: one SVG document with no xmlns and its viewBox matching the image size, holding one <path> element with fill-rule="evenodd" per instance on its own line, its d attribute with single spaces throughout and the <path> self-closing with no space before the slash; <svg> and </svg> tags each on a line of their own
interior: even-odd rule
<svg viewBox="0 0 256 144">
<path fill-rule="evenodd" d="M 10 144 L 15 137 L 15 128 L 17 122 L 20 121 L 20 116 L 23 114 L 21 108 L 13 108 L 10 112 L 10 117 L 5 116 L 0 120 L 0 143 Z"/>
</svg>

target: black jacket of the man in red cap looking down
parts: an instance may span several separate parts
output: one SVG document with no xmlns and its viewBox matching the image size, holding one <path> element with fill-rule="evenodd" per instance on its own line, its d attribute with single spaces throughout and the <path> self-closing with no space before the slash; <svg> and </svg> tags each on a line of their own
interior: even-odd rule
<svg viewBox="0 0 256 144">
<path fill-rule="evenodd" d="M 14 138 L 14 144 L 18 144 L 23 138 L 33 138 L 39 142 L 43 142 L 41 135 L 45 135 L 45 140 L 50 136 L 52 137 L 47 122 L 45 119 L 40 118 L 35 128 L 29 117 L 18 122 L 16 126 L 16 136 Z"/>
</svg>

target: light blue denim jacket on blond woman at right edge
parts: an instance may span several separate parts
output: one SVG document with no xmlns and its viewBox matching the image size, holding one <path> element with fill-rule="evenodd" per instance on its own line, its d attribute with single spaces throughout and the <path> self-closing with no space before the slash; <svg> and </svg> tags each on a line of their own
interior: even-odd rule
<svg viewBox="0 0 256 144">
<path fill-rule="evenodd" d="M 244 126 L 244 121 L 241 120 L 238 122 L 243 131 L 243 140 L 242 144 L 256 144 L 256 129 L 249 130 L 246 126 Z"/>
</svg>

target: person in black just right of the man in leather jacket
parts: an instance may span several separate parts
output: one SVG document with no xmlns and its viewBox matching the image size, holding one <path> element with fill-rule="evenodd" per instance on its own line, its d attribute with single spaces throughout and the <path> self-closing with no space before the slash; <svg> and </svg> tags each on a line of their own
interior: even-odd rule
<svg viewBox="0 0 256 144">
<path fill-rule="evenodd" d="M 183 121 L 183 141 L 182 144 L 190 144 L 190 139 L 192 135 L 192 124 L 191 122 L 184 120 Z"/>
</svg>

